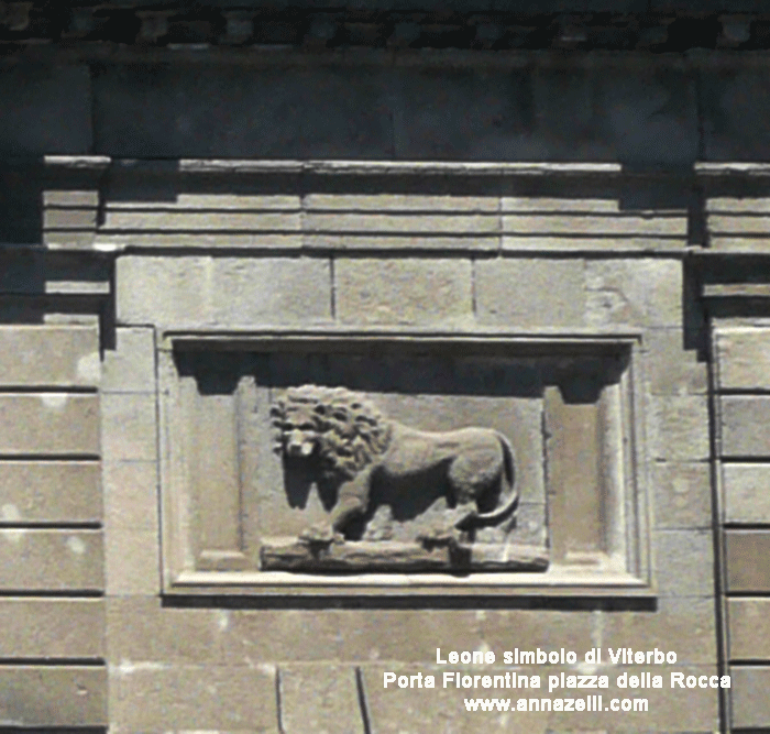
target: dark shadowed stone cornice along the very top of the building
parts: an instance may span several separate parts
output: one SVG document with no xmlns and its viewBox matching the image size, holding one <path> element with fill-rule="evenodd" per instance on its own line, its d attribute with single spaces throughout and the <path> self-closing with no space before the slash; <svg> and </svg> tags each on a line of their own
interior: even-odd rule
<svg viewBox="0 0 770 734">
<path fill-rule="evenodd" d="M 209 50 L 261 46 L 309 50 L 762 50 L 770 47 L 763 3 L 723 2 L 708 12 L 679 0 L 509 3 L 464 0 L 394 2 L 102 2 L 58 9 L 0 4 L 0 44 Z M 763 11 L 763 12 L 762 12 Z"/>
</svg>

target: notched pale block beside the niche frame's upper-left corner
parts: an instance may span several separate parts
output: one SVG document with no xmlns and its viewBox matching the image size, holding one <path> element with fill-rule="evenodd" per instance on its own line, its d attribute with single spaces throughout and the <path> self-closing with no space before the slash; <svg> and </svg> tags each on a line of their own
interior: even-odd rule
<svg viewBox="0 0 770 734">
<path fill-rule="evenodd" d="M 153 329 L 116 329 L 116 348 L 105 352 L 102 393 L 155 392 Z"/>
</svg>

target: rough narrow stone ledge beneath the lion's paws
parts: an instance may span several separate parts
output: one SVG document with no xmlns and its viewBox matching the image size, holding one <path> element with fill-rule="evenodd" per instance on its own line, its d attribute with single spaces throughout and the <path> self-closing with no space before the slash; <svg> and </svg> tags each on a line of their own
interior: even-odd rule
<svg viewBox="0 0 770 734">
<path fill-rule="evenodd" d="M 263 571 L 544 571 L 548 549 L 537 546 L 418 543 L 307 544 L 265 540 Z"/>
</svg>

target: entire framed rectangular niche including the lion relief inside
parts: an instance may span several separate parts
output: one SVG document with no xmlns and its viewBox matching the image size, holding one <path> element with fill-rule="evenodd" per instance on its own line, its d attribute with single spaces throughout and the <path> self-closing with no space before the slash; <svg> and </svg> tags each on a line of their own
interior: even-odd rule
<svg viewBox="0 0 770 734">
<path fill-rule="evenodd" d="M 167 338 L 166 591 L 645 589 L 634 351 Z"/>
</svg>

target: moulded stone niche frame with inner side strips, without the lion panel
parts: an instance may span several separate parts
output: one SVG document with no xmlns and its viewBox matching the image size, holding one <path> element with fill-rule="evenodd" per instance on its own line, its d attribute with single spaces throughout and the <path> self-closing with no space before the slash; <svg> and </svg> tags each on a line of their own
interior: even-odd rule
<svg viewBox="0 0 770 734">
<path fill-rule="evenodd" d="M 594 405 L 575 404 L 557 385 L 543 385 L 542 441 L 546 479 L 546 571 L 309 573 L 260 570 L 253 522 L 258 501 L 248 487 L 258 451 L 244 450 L 238 415 L 248 406 L 234 385 L 195 397 L 180 364 L 189 354 L 232 362 L 252 353 L 359 353 L 402 347 L 429 354 L 458 351 L 508 359 L 609 357 L 623 363 Z M 610 337 L 524 336 L 505 332 L 425 335 L 404 331 L 167 332 L 157 354 L 161 391 L 161 507 L 163 591 L 169 594 L 256 595 L 647 595 L 654 593 L 649 562 L 646 453 L 639 335 Z M 182 370 L 184 371 L 184 370 Z M 219 377 L 232 380 L 228 369 Z M 204 392 L 206 392 L 204 390 Z M 568 391 L 569 392 L 569 391 Z M 246 393 L 248 394 L 248 393 Z M 239 397 L 240 396 L 240 397 Z M 202 426 L 201 430 L 198 426 Z M 596 439 L 601 456 L 586 461 Z M 200 439 L 199 437 L 204 437 Z M 574 438 L 581 438 L 576 443 Z M 570 439 L 572 437 L 572 439 Z M 588 437 L 588 438 L 586 438 Z M 209 451 L 198 451 L 205 440 Z M 552 442 L 557 449 L 547 449 Z M 550 452 L 550 453 L 549 453 Z M 578 467 L 575 476 L 575 467 Z M 591 472 L 595 472 L 593 475 Z M 196 476 L 206 474 L 207 504 Z M 251 478 L 251 479 L 250 479 Z M 576 481 L 575 481 L 576 480 Z M 581 481 L 582 480 L 582 481 Z M 575 481 L 574 484 L 572 482 Z M 570 484 L 570 492 L 564 487 Z M 561 491 L 556 487 L 561 486 Z M 213 491 L 212 491 L 213 490 Z M 590 522 L 575 524 L 571 517 Z M 206 522 L 200 522 L 205 515 Z M 252 529 L 250 530 L 250 525 Z"/>
</svg>

